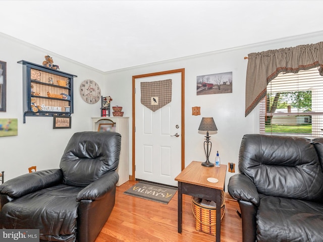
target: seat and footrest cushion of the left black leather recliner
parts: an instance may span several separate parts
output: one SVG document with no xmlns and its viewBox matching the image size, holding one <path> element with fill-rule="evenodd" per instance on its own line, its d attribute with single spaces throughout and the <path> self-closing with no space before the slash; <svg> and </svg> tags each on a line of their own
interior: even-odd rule
<svg viewBox="0 0 323 242">
<path fill-rule="evenodd" d="M 75 241 L 82 187 L 58 185 L 25 195 L 3 206 L 0 220 L 13 224 L 14 229 L 38 228 L 40 239 Z"/>
</svg>

